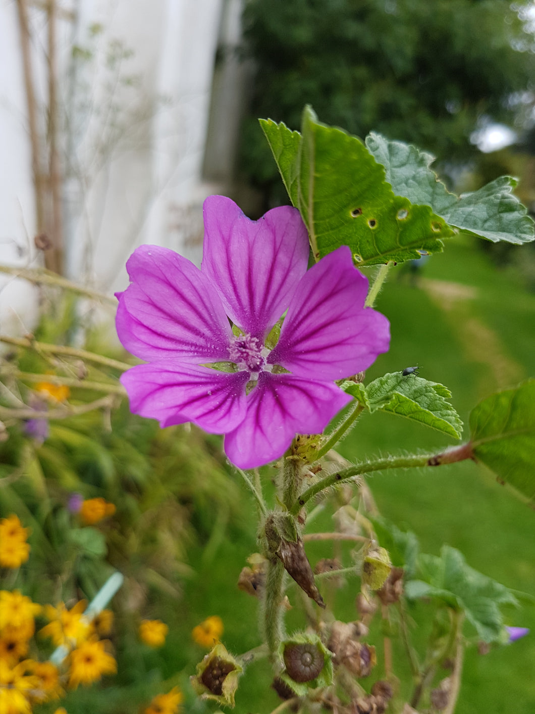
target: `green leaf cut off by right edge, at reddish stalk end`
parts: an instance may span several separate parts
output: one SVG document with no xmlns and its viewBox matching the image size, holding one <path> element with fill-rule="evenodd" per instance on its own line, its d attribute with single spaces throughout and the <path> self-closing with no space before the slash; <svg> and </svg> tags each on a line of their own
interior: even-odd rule
<svg viewBox="0 0 535 714">
<path fill-rule="evenodd" d="M 535 501 L 535 379 L 492 394 L 470 413 L 472 451 L 478 461 Z"/>
</svg>

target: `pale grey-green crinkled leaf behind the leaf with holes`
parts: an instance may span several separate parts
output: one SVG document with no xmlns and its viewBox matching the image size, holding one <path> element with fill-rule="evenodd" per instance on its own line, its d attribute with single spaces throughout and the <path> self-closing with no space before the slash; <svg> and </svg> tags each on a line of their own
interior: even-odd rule
<svg viewBox="0 0 535 714">
<path fill-rule="evenodd" d="M 501 176 L 479 191 L 455 196 L 429 168 L 434 156 L 380 134 L 366 138 L 366 146 L 384 166 L 394 193 L 413 203 L 427 203 L 449 226 L 496 243 L 533 241 L 534 221 L 512 192 L 516 178 Z"/>
</svg>

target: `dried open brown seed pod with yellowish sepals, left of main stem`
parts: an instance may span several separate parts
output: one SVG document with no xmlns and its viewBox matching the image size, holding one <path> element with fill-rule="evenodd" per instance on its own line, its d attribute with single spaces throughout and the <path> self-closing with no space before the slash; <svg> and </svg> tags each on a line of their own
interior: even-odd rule
<svg viewBox="0 0 535 714">
<path fill-rule="evenodd" d="M 191 685 L 203 699 L 234 706 L 234 695 L 238 689 L 238 678 L 243 668 L 225 645 L 218 643 L 197 665 L 197 674 L 191 677 Z"/>
</svg>

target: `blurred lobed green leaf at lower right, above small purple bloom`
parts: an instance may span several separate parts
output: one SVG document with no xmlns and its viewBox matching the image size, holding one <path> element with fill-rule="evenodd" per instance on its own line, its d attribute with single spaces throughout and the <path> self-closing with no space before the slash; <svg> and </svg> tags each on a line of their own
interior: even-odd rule
<svg viewBox="0 0 535 714">
<path fill-rule="evenodd" d="M 440 558 L 420 555 L 419 579 L 405 585 L 410 599 L 437 598 L 454 610 L 463 610 L 484 642 L 499 641 L 503 621 L 499 605 L 518 605 L 509 588 L 470 568 L 464 555 L 444 545 Z"/>
</svg>

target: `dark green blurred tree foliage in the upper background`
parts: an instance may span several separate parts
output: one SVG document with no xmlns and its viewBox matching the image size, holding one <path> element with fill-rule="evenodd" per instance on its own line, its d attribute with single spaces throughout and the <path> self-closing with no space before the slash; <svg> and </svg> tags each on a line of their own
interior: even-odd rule
<svg viewBox="0 0 535 714">
<path fill-rule="evenodd" d="M 247 0 L 245 51 L 256 81 L 241 163 L 268 202 L 275 162 L 257 117 L 298 129 L 305 104 L 328 124 L 371 129 L 439 159 L 466 161 L 478 118 L 511 122 L 529 91 L 535 41 L 529 6 L 508 0 Z"/>
</svg>

